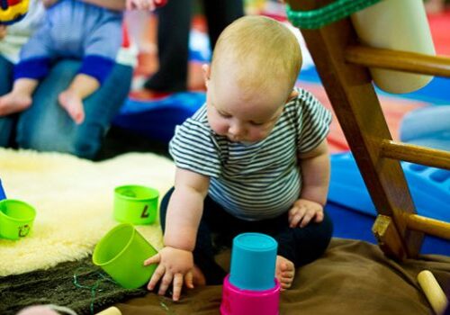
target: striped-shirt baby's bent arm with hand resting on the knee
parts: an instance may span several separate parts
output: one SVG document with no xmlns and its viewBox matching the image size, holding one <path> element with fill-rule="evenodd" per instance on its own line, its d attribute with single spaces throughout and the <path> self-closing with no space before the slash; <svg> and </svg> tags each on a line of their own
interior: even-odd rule
<svg viewBox="0 0 450 315">
<path fill-rule="evenodd" d="M 324 139 L 310 152 L 299 156 L 302 167 L 302 193 L 289 211 L 291 228 L 305 227 L 312 219 L 323 220 L 323 206 L 329 192 L 329 148 Z"/>
</svg>

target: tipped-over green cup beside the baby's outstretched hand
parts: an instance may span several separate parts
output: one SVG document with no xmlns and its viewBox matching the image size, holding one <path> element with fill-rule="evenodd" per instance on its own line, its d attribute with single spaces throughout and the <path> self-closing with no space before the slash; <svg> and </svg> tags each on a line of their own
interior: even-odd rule
<svg viewBox="0 0 450 315">
<path fill-rule="evenodd" d="M 136 289 L 155 272 L 157 264 L 144 266 L 144 260 L 155 254 L 157 250 L 130 223 L 122 223 L 100 239 L 92 261 L 124 288 Z"/>
</svg>

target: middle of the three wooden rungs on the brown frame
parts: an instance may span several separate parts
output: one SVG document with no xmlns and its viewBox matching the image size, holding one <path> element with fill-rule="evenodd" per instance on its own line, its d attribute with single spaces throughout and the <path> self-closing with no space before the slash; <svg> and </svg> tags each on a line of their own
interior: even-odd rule
<svg viewBox="0 0 450 315">
<path fill-rule="evenodd" d="M 381 155 L 425 166 L 450 169 L 450 152 L 413 144 L 383 140 Z"/>
</svg>

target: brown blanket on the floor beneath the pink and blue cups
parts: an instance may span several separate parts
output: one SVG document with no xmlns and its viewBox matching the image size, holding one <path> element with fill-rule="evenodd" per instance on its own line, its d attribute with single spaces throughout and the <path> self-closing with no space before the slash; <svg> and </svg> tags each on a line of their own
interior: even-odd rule
<svg viewBox="0 0 450 315">
<path fill-rule="evenodd" d="M 281 293 L 281 314 L 431 314 L 416 276 L 428 269 L 450 290 L 450 257 L 423 256 L 397 263 L 372 244 L 334 238 L 324 257 L 297 270 Z M 180 302 L 148 293 L 116 306 L 127 314 L 219 314 L 221 286 L 187 291 Z"/>
</svg>

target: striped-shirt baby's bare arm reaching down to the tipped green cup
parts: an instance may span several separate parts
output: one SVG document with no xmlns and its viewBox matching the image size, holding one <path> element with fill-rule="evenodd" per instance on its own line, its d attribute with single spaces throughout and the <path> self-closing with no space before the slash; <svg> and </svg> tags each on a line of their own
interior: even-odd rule
<svg viewBox="0 0 450 315">
<path fill-rule="evenodd" d="M 177 301 L 184 283 L 193 288 L 193 247 L 209 184 L 207 176 L 176 168 L 175 190 L 167 208 L 165 247 L 145 261 L 145 265 L 159 263 L 148 290 L 153 290 L 162 279 L 158 293 L 166 293 L 173 284 L 173 299 Z"/>
</svg>

